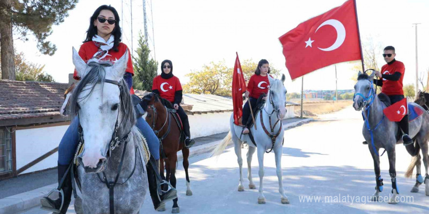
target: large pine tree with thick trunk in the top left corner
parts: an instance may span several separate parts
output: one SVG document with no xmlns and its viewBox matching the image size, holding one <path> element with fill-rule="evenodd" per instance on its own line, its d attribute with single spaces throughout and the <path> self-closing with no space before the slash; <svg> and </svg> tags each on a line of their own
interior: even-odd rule
<svg viewBox="0 0 429 214">
<path fill-rule="evenodd" d="M 42 54 L 53 55 L 56 46 L 46 38 L 52 34 L 52 25 L 58 25 L 75 8 L 78 0 L 0 0 L 0 52 L 2 79 L 14 80 L 13 32 L 28 40 L 36 37 Z"/>
</svg>

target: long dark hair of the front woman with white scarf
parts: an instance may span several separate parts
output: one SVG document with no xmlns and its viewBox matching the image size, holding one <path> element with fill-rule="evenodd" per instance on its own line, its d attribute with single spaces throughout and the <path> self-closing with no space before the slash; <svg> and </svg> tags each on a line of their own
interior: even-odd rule
<svg viewBox="0 0 429 214">
<path fill-rule="evenodd" d="M 96 20 L 96 18 L 98 18 L 98 15 L 100 15 L 100 11 L 102 10 L 110 10 L 112 11 L 113 15 L 115 16 L 115 28 L 113 29 L 111 35 L 115 36 L 115 40 L 113 41 L 113 48 L 112 50 L 114 51 L 118 51 L 117 50 L 117 46 L 119 46 L 119 42 L 121 41 L 121 29 L 119 27 L 119 15 L 117 14 L 117 11 L 114 7 L 112 6 L 107 6 L 107 5 L 101 5 L 97 8 L 96 11 L 94 11 L 94 14 L 91 16 L 91 18 L 89 19 L 89 27 L 88 30 L 86 31 L 86 39 L 83 42 L 88 42 L 88 41 L 92 41 L 92 37 L 97 35 L 97 27 L 94 26 L 94 21 Z"/>
</svg>

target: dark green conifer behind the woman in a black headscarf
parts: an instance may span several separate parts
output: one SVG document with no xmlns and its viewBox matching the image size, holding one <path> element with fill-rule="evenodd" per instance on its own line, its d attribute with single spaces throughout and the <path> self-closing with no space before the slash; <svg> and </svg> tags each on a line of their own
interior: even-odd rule
<svg viewBox="0 0 429 214">
<path fill-rule="evenodd" d="M 152 90 L 152 82 L 156 77 L 158 62 L 149 58 L 151 50 L 147 46 L 144 36 L 138 35 L 138 47 L 134 59 L 133 88 L 138 90 Z"/>
</svg>

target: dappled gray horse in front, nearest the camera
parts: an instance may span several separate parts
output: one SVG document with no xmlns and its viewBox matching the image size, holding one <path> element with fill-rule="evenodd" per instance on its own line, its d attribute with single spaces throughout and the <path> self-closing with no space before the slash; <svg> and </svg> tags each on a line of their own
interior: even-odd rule
<svg viewBox="0 0 429 214">
<path fill-rule="evenodd" d="M 113 65 L 91 60 L 86 64 L 73 49 L 73 63 L 82 80 L 69 106 L 72 117 L 80 119 L 84 142 L 77 156 L 78 214 L 138 214 L 146 195 L 144 168 L 149 154 L 142 149 L 145 140 L 135 126 L 131 96 L 122 79 L 127 62 L 125 53 Z"/>
</svg>

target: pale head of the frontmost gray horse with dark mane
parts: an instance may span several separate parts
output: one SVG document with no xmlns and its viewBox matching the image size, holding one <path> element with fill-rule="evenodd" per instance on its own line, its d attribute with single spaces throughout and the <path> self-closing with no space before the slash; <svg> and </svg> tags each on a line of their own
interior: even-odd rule
<svg viewBox="0 0 429 214">
<path fill-rule="evenodd" d="M 81 80 L 72 92 L 69 107 L 70 116 L 79 118 L 84 149 L 78 162 L 85 172 L 103 171 L 110 151 L 136 123 L 131 95 L 122 78 L 127 62 L 128 52 L 114 64 L 94 59 L 86 64 L 73 48 L 73 64 Z"/>
</svg>

